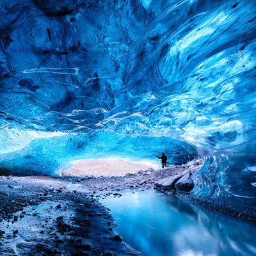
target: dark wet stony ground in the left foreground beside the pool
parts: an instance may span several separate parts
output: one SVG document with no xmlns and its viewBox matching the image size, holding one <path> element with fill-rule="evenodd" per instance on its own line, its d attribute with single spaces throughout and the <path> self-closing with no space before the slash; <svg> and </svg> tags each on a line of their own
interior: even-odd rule
<svg viewBox="0 0 256 256">
<path fill-rule="evenodd" d="M 0 255 L 140 255 L 86 193 L 0 179 Z"/>
</svg>

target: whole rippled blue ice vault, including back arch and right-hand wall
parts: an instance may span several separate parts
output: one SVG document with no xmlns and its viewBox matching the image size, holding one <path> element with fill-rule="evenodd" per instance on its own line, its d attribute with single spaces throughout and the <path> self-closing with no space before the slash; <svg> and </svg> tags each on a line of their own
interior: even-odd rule
<svg viewBox="0 0 256 256">
<path fill-rule="evenodd" d="M 0 5 L 3 173 L 164 150 L 207 159 L 196 196 L 255 204 L 255 1 Z"/>
</svg>

